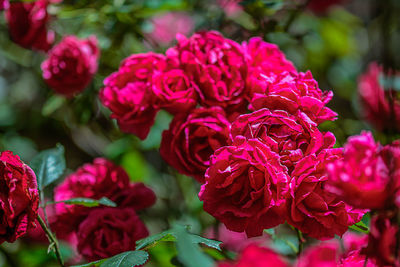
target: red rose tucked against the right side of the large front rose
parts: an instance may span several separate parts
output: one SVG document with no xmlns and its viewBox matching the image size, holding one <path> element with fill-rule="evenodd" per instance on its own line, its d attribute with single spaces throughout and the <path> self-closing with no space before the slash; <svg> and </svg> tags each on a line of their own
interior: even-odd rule
<svg viewBox="0 0 400 267">
<path fill-rule="evenodd" d="M 287 221 L 310 237 L 325 240 L 343 235 L 364 212 L 353 210 L 326 191 L 325 165 L 340 158 L 341 149 L 327 149 L 302 158 L 291 173 Z"/>
</svg>

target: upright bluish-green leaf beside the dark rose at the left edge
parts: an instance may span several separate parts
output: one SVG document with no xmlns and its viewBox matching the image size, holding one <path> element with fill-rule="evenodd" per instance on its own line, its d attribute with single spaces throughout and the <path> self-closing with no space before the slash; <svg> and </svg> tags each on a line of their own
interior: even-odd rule
<svg viewBox="0 0 400 267">
<path fill-rule="evenodd" d="M 39 190 L 43 190 L 64 173 L 64 147 L 57 144 L 55 148 L 41 151 L 31 160 L 30 166 L 36 174 Z"/>
</svg>

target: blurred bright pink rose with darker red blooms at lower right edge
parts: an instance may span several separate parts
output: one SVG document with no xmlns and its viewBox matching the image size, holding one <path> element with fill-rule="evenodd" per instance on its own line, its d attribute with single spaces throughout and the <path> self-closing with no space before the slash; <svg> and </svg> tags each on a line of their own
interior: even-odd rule
<svg viewBox="0 0 400 267">
<path fill-rule="evenodd" d="M 370 132 L 352 136 L 343 157 L 327 167 L 327 189 L 355 208 L 373 211 L 368 246 L 380 265 L 398 265 L 397 218 L 400 198 L 400 142 L 382 146 Z"/>
</svg>

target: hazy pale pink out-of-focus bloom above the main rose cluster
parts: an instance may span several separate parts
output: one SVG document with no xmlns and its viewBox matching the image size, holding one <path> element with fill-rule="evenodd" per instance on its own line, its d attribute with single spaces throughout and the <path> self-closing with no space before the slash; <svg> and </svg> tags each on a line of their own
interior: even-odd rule
<svg viewBox="0 0 400 267">
<path fill-rule="evenodd" d="M 151 19 L 153 31 L 149 33 L 151 39 L 161 45 L 170 44 L 176 34 L 190 34 L 194 29 L 194 21 L 185 12 L 168 12 Z"/>
</svg>

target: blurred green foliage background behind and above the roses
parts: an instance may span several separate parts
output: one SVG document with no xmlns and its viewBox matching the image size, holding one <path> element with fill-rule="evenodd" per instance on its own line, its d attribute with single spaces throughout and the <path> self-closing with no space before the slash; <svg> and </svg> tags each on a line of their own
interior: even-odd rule
<svg viewBox="0 0 400 267">
<path fill-rule="evenodd" d="M 329 106 L 339 114 L 321 125 L 341 146 L 350 135 L 374 130 L 362 120 L 357 81 L 370 62 L 400 69 L 398 0 L 64 0 L 48 7 L 49 28 L 62 36 L 95 35 L 101 48 L 99 71 L 88 88 L 70 99 L 53 93 L 42 79 L 45 54 L 10 41 L 0 13 L 0 150 L 29 162 L 38 151 L 61 143 L 70 171 L 95 157 L 122 165 L 132 181 L 149 185 L 158 197 L 142 218 L 151 233 L 179 221 L 203 234 L 215 220 L 202 209 L 200 185 L 168 167 L 158 148 L 171 116 L 160 112 L 145 141 L 123 134 L 97 97 L 103 80 L 122 59 L 147 51 L 164 53 L 175 34 L 217 30 L 239 43 L 252 36 L 277 44 L 300 71 L 310 70 L 322 90 L 332 90 Z M 398 92 L 397 92 L 398 93 Z M 375 132 L 382 143 L 387 135 Z M 288 251 L 285 244 L 281 250 Z M 16 266 L 51 266 L 46 246 L 19 241 L 1 246 Z M 71 255 L 67 247 L 66 255 Z M 149 266 L 172 266 L 173 246 L 151 251 Z M 287 252 L 289 253 L 289 252 Z M 173 254 L 173 253 L 172 253 Z M 1 266 L 2 264 L 0 264 Z"/>
</svg>

